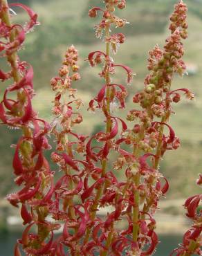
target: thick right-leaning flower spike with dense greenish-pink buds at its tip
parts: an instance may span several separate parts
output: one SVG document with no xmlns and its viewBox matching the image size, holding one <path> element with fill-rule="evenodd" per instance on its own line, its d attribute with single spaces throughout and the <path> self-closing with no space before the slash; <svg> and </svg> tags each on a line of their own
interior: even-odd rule
<svg viewBox="0 0 202 256">
<path fill-rule="evenodd" d="M 184 53 L 181 39 L 187 37 L 186 11 L 187 7 L 180 1 L 171 17 L 171 35 L 166 39 L 164 50 L 155 46 L 154 50 L 149 52 L 150 73 L 145 78 L 143 91 L 136 93 L 133 99 L 143 110 L 139 110 L 139 107 L 132 109 L 127 116 L 127 120 L 135 121 L 134 128 L 125 133 L 125 142 L 134 146 L 135 161 L 131 163 L 131 160 L 126 160 L 123 163 L 127 163 L 128 167 L 127 183 L 130 181 L 131 185 L 135 184 L 133 196 L 136 203 L 132 205 L 130 217 L 133 223 L 132 237 L 138 244 L 134 248 L 136 255 L 143 252 L 145 244 L 149 244 L 149 253 L 143 255 L 151 255 L 158 244 L 154 232 L 155 225 L 151 226 L 146 220 L 147 214 L 153 219 L 160 196 L 169 188 L 167 179 L 158 171 L 160 159 L 166 150 L 177 149 L 180 145 L 174 130 L 167 123 L 173 113 L 172 102 L 180 101 L 181 91 L 190 99 L 194 97 L 188 89 L 171 90 L 174 74 L 185 73 L 185 64 L 181 60 Z M 177 21 L 174 17 L 177 17 Z M 168 128 L 168 135 L 164 134 L 165 127 Z M 148 158 L 152 160 L 150 163 Z M 145 233 L 142 231 L 143 221 Z M 155 239 L 152 239 L 152 236 Z"/>
</svg>

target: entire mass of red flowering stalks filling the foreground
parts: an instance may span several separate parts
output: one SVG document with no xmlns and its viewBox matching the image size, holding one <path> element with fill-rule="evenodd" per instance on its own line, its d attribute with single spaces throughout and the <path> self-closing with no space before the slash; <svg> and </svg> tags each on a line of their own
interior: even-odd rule
<svg viewBox="0 0 202 256">
<path fill-rule="evenodd" d="M 169 125 L 173 113 L 172 102 L 194 95 L 185 88 L 172 90 L 174 75 L 185 73 L 182 39 L 187 37 L 186 12 L 183 1 L 175 6 L 170 18 L 171 35 L 163 50 L 155 46 L 149 52 L 149 75 L 144 89 L 134 95 L 138 106 L 131 109 L 126 120 L 113 113 L 113 104 L 125 108 L 127 85 L 115 84 L 112 77 L 118 69 L 126 73 L 126 84 L 131 84 L 135 73 L 124 64 L 116 64 L 111 57 L 118 46 L 125 42 L 122 33 L 111 34 L 111 28 L 127 24 L 114 15 L 116 8 L 123 9 L 125 0 L 104 0 L 105 8 L 89 10 L 90 17 L 101 14 L 95 26 L 95 35 L 104 37 L 105 51 L 89 53 L 91 66 L 102 64 L 99 75 L 103 80 L 98 94 L 89 102 L 89 110 L 103 113 L 105 129 L 93 136 L 77 134 L 75 125 L 82 122 L 78 109 L 82 100 L 75 97 L 75 81 L 80 80 L 77 66 L 78 53 L 74 46 L 67 49 L 57 77 L 50 80 L 55 91 L 50 125 L 40 118 L 32 107 L 33 68 L 21 62 L 17 51 L 26 34 L 37 25 L 37 14 L 21 3 L 8 6 L 0 0 L 0 51 L 8 60 L 10 71 L 0 70 L 0 79 L 12 79 L 0 103 L 1 121 L 10 127 L 21 129 L 22 136 L 15 147 L 13 169 L 15 183 L 23 186 L 19 192 L 8 195 L 14 206 L 21 205 L 21 217 L 26 228 L 15 246 L 15 255 L 152 255 L 158 245 L 154 214 L 160 196 L 169 189 L 167 179 L 159 172 L 160 160 L 167 150 L 180 145 Z M 12 24 L 12 7 L 23 8 L 29 16 L 25 26 Z M 11 98 L 8 98 L 12 94 Z M 15 98 L 13 97 L 15 95 Z M 134 122 L 129 129 L 127 121 Z M 168 133 L 165 133 L 167 129 Z M 56 149 L 51 159 L 57 163 L 62 176 L 53 183 L 55 172 L 50 170 L 44 150 L 50 149 L 47 134 L 55 136 Z M 111 154 L 116 161 L 111 165 Z M 118 172 L 125 173 L 120 181 Z M 201 176 L 198 181 L 201 184 Z M 196 213 L 201 195 L 185 202 L 187 217 L 194 219 L 194 226 L 187 231 L 177 255 L 198 253 L 201 238 L 201 212 Z M 104 218 L 99 209 L 111 206 Z M 49 217 L 49 218 L 48 218 Z M 51 219 L 50 219 L 51 218 Z M 120 230 L 120 221 L 127 221 L 127 228 Z M 34 228 L 37 228 L 35 232 Z M 62 234 L 54 237 L 54 231 L 62 227 Z"/>
</svg>

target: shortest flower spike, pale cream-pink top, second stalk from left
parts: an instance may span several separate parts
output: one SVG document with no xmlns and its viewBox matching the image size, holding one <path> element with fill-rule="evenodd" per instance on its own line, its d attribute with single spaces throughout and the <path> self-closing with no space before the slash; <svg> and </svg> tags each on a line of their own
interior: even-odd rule
<svg viewBox="0 0 202 256">
<path fill-rule="evenodd" d="M 57 152 L 53 152 L 51 158 L 63 172 L 63 176 L 55 184 L 55 201 L 50 205 L 50 212 L 53 219 L 65 222 L 62 235 L 52 246 L 52 255 L 64 255 L 64 246 L 70 248 L 71 255 L 80 255 L 79 241 L 89 220 L 87 206 L 78 204 L 88 165 L 85 161 L 75 159 L 76 153 L 82 157 L 86 149 L 86 137 L 73 132 L 75 124 L 82 122 L 82 115 L 77 112 L 82 106 L 82 100 L 75 98 L 77 90 L 72 87 L 73 82 L 80 80 L 77 60 L 77 50 L 74 46 L 69 47 L 59 69 L 59 76 L 50 80 L 50 86 L 55 91 L 53 114 L 56 116 L 50 127 L 57 142 Z"/>
</svg>

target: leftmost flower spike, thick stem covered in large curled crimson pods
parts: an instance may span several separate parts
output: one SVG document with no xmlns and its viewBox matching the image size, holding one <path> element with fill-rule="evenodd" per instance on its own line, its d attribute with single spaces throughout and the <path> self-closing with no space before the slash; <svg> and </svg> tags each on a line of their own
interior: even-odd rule
<svg viewBox="0 0 202 256">
<path fill-rule="evenodd" d="M 26 34 L 37 25 L 37 14 L 21 3 L 12 3 L 9 7 L 6 1 L 0 3 L 1 57 L 5 57 L 10 66 L 10 71 L 0 71 L 0 78 L 12 80 L 0 103 L 0 118 L 8 127 L 22 131 L 17 145 L 13 145 L 15 154 L 12 161 L 15 183 L 22 188 L 7 196 L 15 207 L 21 205 L 21 218 L 27 225 L 22 238 L 17 241 L 15 255 L 21 255 L 19 244 L 26 255 L 44 255 L 52 244 L 53 230 L 57 229 L 46 221 L 54 192 L 53 173 L 44 156 L 44 150 L 50 149 L 46 138 L 49 125 L 38 118 L 32 107 L 33 68 L 17 56 Z M 10 21 L 10 7 L 16 6 L 28 13 L 30 19 L 25 26 Z M 37 226 L 37 234 L 30 232 L 34 226 Z M 50 240 L 46 242 L 49 234 Z"/>
</svg>

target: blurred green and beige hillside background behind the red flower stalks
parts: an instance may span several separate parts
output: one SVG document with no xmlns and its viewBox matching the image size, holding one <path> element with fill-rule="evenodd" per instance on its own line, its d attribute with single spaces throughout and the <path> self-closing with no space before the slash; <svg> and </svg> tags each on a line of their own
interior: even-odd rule
<svg viewBox="0 0 202 256">
<path fill-rule="evenodd" d="M 35 70 L 37 96 L 34 105 L 39 111 L 39 116 L 48 121 L 53 119 L 51 116 L 53 93 L 49 81 L 51 77 L 57 75 L 66 48 L 74 44 L 80 52 L 82 75 L 82 80 L 75 86 L 85 104 L 84 122 L 77 129 L 90 134 L 100 131 L 104 126 L 104 122 L 100 122 L 101 114 L 86 113 L 89 100 L 95 97 L 102 85 L 102 80 L 98 76 L 100 67 L 91 68 L 84 59 L 90 51 L 104 48 L 102 40 L 95 39 L 93 30 L 93 26 L 98 24 L 100 18 L 88 17 L 89 8 L 101 6 L 102 1 L 21 0 L 18 2 L 31 6 L 39 15 L 41 24 L 35 28 L 34 33 L 27 35 L 24 49 L 19 54 L 21 60 L 30 62 Z M 129 24 L 121 30 L 116 29 L 116 33 L 127 35 L 127 41 L 120 46 L 113 59 L 117 63 L 130 66 L 137 73 L 133 84 L 129 87 L 131 95 L 127 98 L 128 109 L 134 108 L 132 103 L 134 93 L 143 88 L 148 73 L 148 51 L 154 48 L 155 44 L 163 47 L 169 35 L 169 15 L 174 10 L 173 6 L 176 2 L 177 0 L 127 0 L 127 8 L 117 12 L 117 15 L 127 19 Z M 170 183 L 167 198 L 161 200 L 161 210 L 157 213 L 158 231 L 162 234 L 160 248 L 165 244 L 170 248 L 171 245 L 181 241 L 179 235 L 189 225 L 184 217 L 183 202 L 187 196 L 200 192 L 195 181 L 202 167 L 202 1 L 184 0 L 184 2 L 189 8 L 189 38 L 185 40 L 184 57 L 189 75 L 185 75 L 183 79 L 176 77 L 173 88 L 190 89 L 196 95 L 196 100 L 192 102 L 182 100 L 180 104 L 174 106 L 176 114 L 172 116 L 171 125 L 176 131 L 176 136 L 181 138 L 181 147 L 177 152 L 167 152 L 160 165 L 161 172 Z M 20 12 L 19 9 L 16 11 L 19 14 L 15 17 L 17 21 L 27 19 L 24 12 Z M 125 73 L 117 73 L 116 79 L 124 82 Z M 2 93 L 1 85 L 0 95 Z M 125 117 L 126 113 L 127 111 L 122 111 L 120 116 Z M 15 191 L 10 156 L 13 149 L 10 149 L 10 145 L 17 142 L 19 134 L 2 126 L 0 132 L 0 239 L 3 244 L 0 255 L 6 256 L 12 255 L 12 251 L 9 252 L 8 248 L 15 243 L 17 230 L 21 229 L 21 221 L 15 216 L 15 209 L 10 208 L 4 200 L 6 194 Z M 168 255 L 162 253 L 160 248 L 155 255 Z"/>
</svg>

